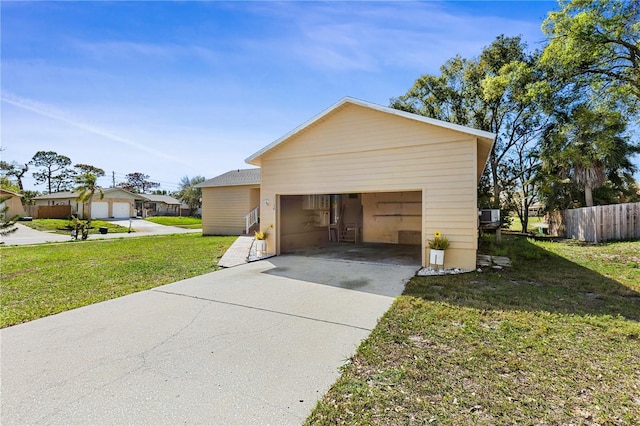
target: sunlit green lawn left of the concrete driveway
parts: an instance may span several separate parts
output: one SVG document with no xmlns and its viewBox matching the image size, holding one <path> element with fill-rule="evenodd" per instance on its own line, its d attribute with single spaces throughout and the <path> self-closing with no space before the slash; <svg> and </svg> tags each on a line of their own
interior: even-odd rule
<svg viewBox="0 0 640 426">
<path fill-rule="evenodd" d="M 234 240 L 179 234 L 2 247 L 0 327 L 215 271 Z"/>
</svg>

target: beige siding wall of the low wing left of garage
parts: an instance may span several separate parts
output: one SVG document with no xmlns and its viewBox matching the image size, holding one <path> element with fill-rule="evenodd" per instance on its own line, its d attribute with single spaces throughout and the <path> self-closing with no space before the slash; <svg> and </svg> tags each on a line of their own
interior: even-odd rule
<svg viewBox="0 0 640 426">
<path fill-rule="evenodd" d="M 202 233 L 242 234 L 245 215 L 258 207 L 258 188 L 255 185 L 202 188 Z"/>
</svg>

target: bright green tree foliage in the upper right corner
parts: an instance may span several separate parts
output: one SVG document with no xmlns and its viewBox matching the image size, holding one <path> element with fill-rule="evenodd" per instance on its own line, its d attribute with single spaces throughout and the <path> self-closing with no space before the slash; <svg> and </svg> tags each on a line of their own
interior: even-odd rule
<svg viewBox="0 0 640 426">
<path fill-rule="evenodd" d="M 640 2 L 563 0 L 542 29 L 542 61 L 555 74 L 598 87 L 636 106 L 640 100 Z"/>
</svg>

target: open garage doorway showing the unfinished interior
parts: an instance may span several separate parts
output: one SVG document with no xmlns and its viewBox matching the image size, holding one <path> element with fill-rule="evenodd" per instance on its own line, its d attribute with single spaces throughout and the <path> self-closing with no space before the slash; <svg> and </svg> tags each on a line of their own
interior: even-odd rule
<svg viewBox="0 0 640 426">
<path fill-rule="evenodd" d="M 421 264 L 422 192 L 280 196 L 280 252 Z"/>
</svg>

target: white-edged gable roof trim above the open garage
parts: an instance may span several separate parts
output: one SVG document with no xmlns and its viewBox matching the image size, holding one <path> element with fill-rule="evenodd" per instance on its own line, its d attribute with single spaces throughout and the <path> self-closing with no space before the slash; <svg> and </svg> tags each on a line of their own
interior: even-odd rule
<svg viewBox="0 0 640 426">
<path fill-rule="evenodd" d="M 412 114 L 410 112 L 400 111 L 398 109 L 385 107 L 385 106 L 374 104 L 374 103 L 367 102 L 367 101 L 362 101 L 360 99 L 355 99 L 355 98 L 351 98 L 351 97 L 345 97 L 345 98 L 342 98 L 340 101 L 338 101 L 336 104 L 332 105 L 331 107 L 329 107 L 326 110 L 322 111 L 320 114 L 318 114 L 315 117 L 313 117 L 311 120 L 309 120 L 309 121 L 303 123 L 302 125 L 296 127 L 295 129 L 293 129 L 292 131 L 290 131 L 286 135 L 282 136 L 281 138 L 277 139 L 276 141 L 272 142 L 271 144 L 265 146 L 260 151 L 258 151 L 255 154 L 253 154 L 252 156 L 248 157 L 245 160 L 245 162 L 248 163 L 248 164 L 253 164 L 255 166 L 260 166 L 260 163 L 261 163 L 260 159 L 265 153 L 267 153 L 268 151 L 270 151 L 273 148 L 277 147 L 278 145 L 280 145 L 282 142 L 286 141 L 287 139 L 290 139 L 291 137 L 293 137 L 293 136 L 297 135 L 298 133 L 302 132 L 307 127 L 312 126 L 313 124 L 315 124 L 316 122 L 322 120 L 326 116 L 328 116 L 328 115 L 332 114 L 333 112 L 339 110 L 345 104 L 359 105 L 361 107 L 369 108 L 369 109 L 380 111 L 380 112 L 384 112 L 386 114 L 392 114 L 392 115 L 396 115 L 396 116 L 399 116 L 399 117 L 408 118 L 410 120 L 415 120 L 415 121 L 418 121 L 418 122 L 421 122 L 421 123 L 430 124 L 430 125 L 433 125 L 433 126 L 438 126 L 438 127 L 442 127 L 442 128 L 445 128 L 445 129 L 454 130 L 454 131 L 457 131 L 457 132 L 461 132 L 461 133 L 465 133 L 465 134 L 468 134 L 468 135 L 471 135 L 471 136 L 475 136 L 475 137 L 478 138 L 478 141 L 480 141 L 482 144 L 486 145 L 485 146 L 485 150 L 487 152 L 487 158 L 488 158 L 488 153 L 491 150 L 491 147 L 493 146 L 493 143 L 494 143 L 495 138 L 496 138 L 495 134 L 490 133 L 490 132 L 485 132 L 484 130 L 473 129 L 471 127 L 461 126 L 459 124 L 453 124 L 453 123 L 449 123 L 447 121 L 436 120 L 435 118 L 429 118 L 429 117 L 425 117 L 423 115 Z M 485 150 L 483 150 L 483 152 Z"/>
</svg>

